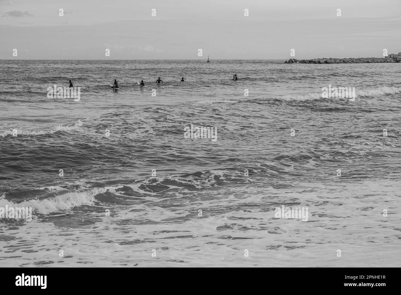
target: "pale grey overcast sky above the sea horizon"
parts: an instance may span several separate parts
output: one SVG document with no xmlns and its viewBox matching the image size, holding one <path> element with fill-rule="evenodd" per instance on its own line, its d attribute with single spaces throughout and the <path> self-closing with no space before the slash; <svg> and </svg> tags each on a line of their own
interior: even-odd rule
<svg viewBox="0 0 401 295">
<path fill-rule="evenodd" d="M 400 32 L 401 0 L 0 0 L 0 59 L 383 57 Z"/>
</svg>

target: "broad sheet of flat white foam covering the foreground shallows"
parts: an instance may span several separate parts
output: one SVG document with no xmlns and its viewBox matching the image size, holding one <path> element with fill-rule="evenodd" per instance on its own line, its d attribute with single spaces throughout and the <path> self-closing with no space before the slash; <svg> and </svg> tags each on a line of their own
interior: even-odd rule
<svg viewBox="0 0 401 295">
<path fill-rule="evenodd" d="M 109 205 L 110 216 L 87 213 L 95 214 L 95 226 L 77 229 L 34 221 L 23 230 L 7 230 L 10 240 L 4 244 L 12 244 L 14 251 L 2 254 L 3 263 L 35 266 L 41 261 L 52 266 L 85 263 L 91 267 L 397 266 L 398 259 L 394 258 L 401 253 L 396 184 L 342 182 L 328 188 L 308 182 L 287 193 L 271 187 L 254 187 L 252 191 L 245 187 L 237 191 L 238 197 L 219 191 L 211 195 L 213 191 L 209 191 L 203 198 L 182 197 L 180 205 L 168 208 L 138 203 L 115 210 Z M 305 193 L 302 186 L 314 190 Z M 308 222 L 275 218 L 275 207 L 294 202 L 308 206 Z M 388 216 L 383 216 L 384 209 Z M 21 240 L 18 246 L 14 238 Z M 26 249 L 37 252 L 32 256 Z M 59 257 L 59 250 L 64 257 Z M 18 260 L 12 258 L 17 255 Z"/>
</svg>

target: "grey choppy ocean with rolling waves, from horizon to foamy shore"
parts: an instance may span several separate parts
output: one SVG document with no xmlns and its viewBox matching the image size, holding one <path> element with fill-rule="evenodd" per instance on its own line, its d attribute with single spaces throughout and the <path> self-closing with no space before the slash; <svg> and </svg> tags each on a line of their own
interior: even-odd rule
<svg viewBox="0 0 401 295">
<path fill-rule="evenodd" d="M 400 266 L 400 63 L 0 62 L 1 267 Z"/>
</svg>

